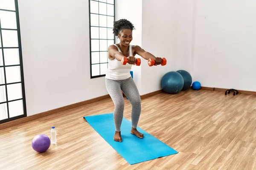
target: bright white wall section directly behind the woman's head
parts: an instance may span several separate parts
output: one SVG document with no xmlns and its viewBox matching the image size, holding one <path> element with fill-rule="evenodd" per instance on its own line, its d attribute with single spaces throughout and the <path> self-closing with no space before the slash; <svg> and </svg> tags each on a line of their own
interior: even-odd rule
<svg viewBox="0 0 256 170">
<path fill-rule="evenodd" d="M 134 5 L 136 4 L 136 5 Z M 131 10 L 132 12 L 127 12 Z M 116 0 L 116 20 L 127 19 L 133 23 L 135 30 L 133 30 L 132 45 L 142 45 L 142 0 Z M 119 43 L 119 39 L 116 39 L 116 43 Z M 135 56 L 141 58 L 140 56 Z M 141 66 L 132 66 L 134 74 L 134 82 L 137 85 L 139 92 L 141 93 Z M 142 95 L 142 94 L 140 94 Z"/>
</svg>

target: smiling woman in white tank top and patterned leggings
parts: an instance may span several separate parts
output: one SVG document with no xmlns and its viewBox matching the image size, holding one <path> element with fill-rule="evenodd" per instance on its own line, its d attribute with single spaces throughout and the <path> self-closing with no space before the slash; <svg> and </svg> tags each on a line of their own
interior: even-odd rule
<svg viewBox="0 0 256 170">
<path fill-rule="evenodd" d="M 113 116 L 116 132 L 113 139 L 116 142 L 122 142 L 120 130 L 124 112 L 122 91 L 125 96 L 128 97 L 132 105 L 131 134 L 143 138 L 143 134 L 137 130 L 141 112 L 140 94 L 130 74 L 131 66 L 136 63 L 134 56 L 138 54 L 147 60 L 154 58 L 156 65 L 161 64 L 160 57 L 154 57 L 154 55 L 144 51 L 138 45 L 130 45 L 133 29 L 133 24 L 126 19 L 114 21 L 113 34 L 119 38 L 120 42 L 119 44 L 110 45 L 108 47 L 109 62 L 105 81 L 107 91 L 115 105 Z M 128 59 L 126 65 L 121 64 L 123 57 L 127 57 Z"/>
</svg>

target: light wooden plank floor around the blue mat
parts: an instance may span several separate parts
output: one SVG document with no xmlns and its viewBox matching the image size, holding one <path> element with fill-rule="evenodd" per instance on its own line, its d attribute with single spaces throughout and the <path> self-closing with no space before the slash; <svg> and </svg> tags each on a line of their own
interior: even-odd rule
<svg viewBox="0 0 256 170">
<path fill-rule="evenodd" d="M 142 100 L 139 126 L 179 153 L 129 165 L 83 119 L 111 113 L 111 99 L 0 130 L 0 169 L 255 170 L 256 96 L 216 91 L 157 94 Z M 131 121 L 125 99 L 125 118 Z M 32 138 L 58 130 L 58 144 L 32 150 Z"/>
</svg>

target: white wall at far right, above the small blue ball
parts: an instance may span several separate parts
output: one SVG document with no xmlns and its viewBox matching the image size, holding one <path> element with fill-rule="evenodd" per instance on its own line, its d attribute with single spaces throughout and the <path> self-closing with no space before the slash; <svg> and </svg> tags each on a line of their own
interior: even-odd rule
<svg viewBox="0 0 256 170">
<path fill-rule="evenodd" d="M 181 0 L 177 65 L 192 61 L 202 86 L 256 91 L 255 8 L 255 0 Z"/>
</svg>

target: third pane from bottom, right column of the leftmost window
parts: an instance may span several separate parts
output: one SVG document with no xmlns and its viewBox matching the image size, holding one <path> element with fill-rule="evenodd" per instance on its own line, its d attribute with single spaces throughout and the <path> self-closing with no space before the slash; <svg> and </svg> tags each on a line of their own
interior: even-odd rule
<svg viewBox="0 0 256 170">
<path fill-rule="evenodd" d="M 6 67 L 6 82 L 20 82 L 20 66 Z"/>
</svg>

